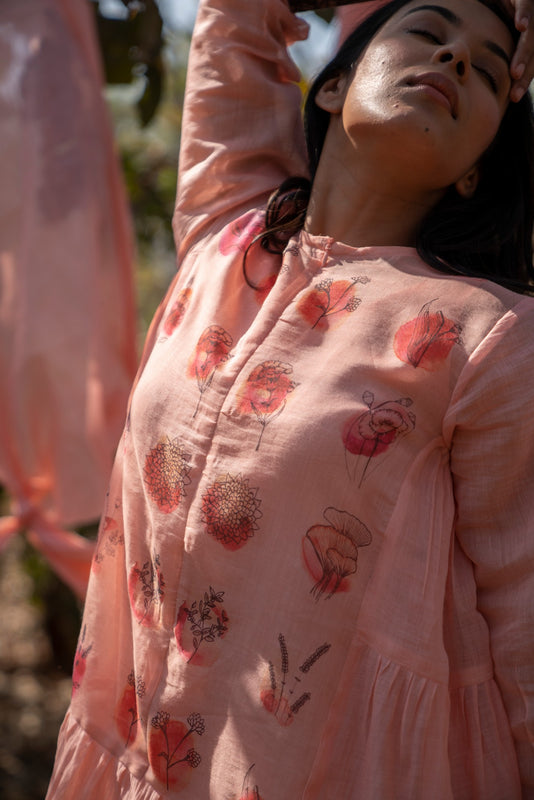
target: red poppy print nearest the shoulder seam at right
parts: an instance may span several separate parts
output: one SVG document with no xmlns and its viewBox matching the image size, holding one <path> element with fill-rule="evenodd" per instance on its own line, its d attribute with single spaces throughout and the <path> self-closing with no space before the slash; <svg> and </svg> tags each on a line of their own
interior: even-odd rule
<svg viewBox="0 0 534 800">
<path fill-rule="evenodd" d="M 455 344 L 460 344 L 462 328 L 444 316 L 430 311 L 435 301 L 425 303 L 415 319 L 402 325 L 393 341 L 397 358 L 429 372 L 445 361 Z"/>
</svg>

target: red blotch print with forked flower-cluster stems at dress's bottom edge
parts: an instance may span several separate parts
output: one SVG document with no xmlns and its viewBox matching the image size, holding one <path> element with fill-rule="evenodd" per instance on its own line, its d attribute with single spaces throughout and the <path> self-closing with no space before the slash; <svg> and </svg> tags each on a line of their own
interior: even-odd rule
<svg viewBox="0 0 534 800">
<path fill-rule="evenodd" d="M 195 740 L 190 737 L 202 736 L 204 731 L 200 714 L 190 714 L 187 726 L 171 719 L 166 711 L 158 711 L 150 720 L 148 757 L 154 774 L 167 790 L 183 789 L 191 779 L 191 770 L 200 766 L 202 759 L 194 747 Z"/>
</svg>

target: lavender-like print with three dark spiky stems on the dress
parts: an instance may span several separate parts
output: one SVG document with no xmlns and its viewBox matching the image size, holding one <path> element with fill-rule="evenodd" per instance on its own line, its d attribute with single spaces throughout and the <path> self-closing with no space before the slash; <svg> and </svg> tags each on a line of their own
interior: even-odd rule
<svg viewBox="0 0 534 800">
<path fill-rule="evenodd" d="M 278 636 L 278 644 L 280 646 L 281 677 L 277 676 L 273 663 L 269 661 L 269 688 L 262 690 L 260 698 L 265 710 L 275 717 L 279 725 L 286 727 L 291 725 L 301 708 L 311 700 L 311 693 L 303 692 L 295 700 L 292 700 L 292 695 L 297 692 L 297 686 L 303 678 L 295 674 L 291 688 L 289 688 L 289 653 L 285 636 L 282 633 Z M 314 664 L 325 653 L 328 653 L 330 647 L 330 644 L 325 643 L 314 650 L 298 668 L 300 674 L 306 676 Z"/>
</svg>

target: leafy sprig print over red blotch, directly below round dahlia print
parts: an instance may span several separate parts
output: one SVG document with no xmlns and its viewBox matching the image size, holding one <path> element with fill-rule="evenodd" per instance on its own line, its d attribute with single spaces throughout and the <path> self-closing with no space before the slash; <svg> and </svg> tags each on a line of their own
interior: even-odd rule
<svg viewBox="0 0 534 800">
<path fill-rule="evenodd" d="M 204 597 L 191 605 L 182 603 L 178 611 L 178 621 L 174 635 L 178 650 L 188 663 L 207 666 L 217 658 L 214 648 L 205 648 L 200 653 L 203 643 L 210 644 L 222 639 L 228 631 L 228 614 L 222 606 L 224 592 L 216 592 L 210 586 Z"/>
</svg>

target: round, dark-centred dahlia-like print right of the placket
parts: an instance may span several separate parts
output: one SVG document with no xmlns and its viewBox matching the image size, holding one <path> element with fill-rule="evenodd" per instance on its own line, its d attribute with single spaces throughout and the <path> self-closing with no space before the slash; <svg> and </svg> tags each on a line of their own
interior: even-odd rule
<svg viewBox="0 0 534 800">
<path fill-rule="evenodd" d="M 258 530 L 262 516 L 258 489 L 241 475 L 218 478 L 202 497 L 206 531 L 228 550 L 239 550 Z"/>
</svg>

